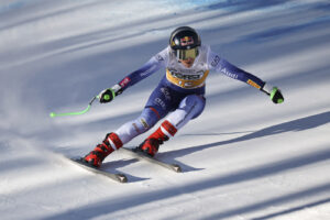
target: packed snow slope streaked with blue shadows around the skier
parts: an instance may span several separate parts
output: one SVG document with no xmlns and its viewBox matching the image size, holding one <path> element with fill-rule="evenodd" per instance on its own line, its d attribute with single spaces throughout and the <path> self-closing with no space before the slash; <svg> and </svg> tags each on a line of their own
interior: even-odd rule
<svg viewBox="0 0 330 220">
<path fill-rule="evenodd" d="M 328 0 L 1 0 L 1 219 L 330 219 L 329 12 Z M 164 69 L 84 116 L 50 112 L 85 109 L 179 25 L 285 102 L 211 73 L 205 112 L 157 155 L 184 173 L 120 151 L 103 169 L 128 184 L 70 164 L 140 114 Z"/>
</svg>

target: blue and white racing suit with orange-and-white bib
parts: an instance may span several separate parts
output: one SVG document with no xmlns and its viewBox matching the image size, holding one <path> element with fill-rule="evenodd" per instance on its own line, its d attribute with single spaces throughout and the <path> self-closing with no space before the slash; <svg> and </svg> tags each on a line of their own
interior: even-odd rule
<svg viewBox="0 0 330 220">
<path fill-rule="evenodd" d="M 166 120 L 177 130 L 197 118 L 205 108 L 206 79 L 211 70 L 244 81 L 257 89 L 262 89 L 265 85 L 265 81 L 230 64 L 207 45 L 199 47 L 199 54 L 189 68 L 179 63 L 168 46 L 141 68 L 124 77 L 119 85 L 124 91 L 161 68 L 165 68 L 166 74 L 151 94 L 141 116 L 116 131 L 123 144 L 146 132 L 166 116 Z"/>
</svg>

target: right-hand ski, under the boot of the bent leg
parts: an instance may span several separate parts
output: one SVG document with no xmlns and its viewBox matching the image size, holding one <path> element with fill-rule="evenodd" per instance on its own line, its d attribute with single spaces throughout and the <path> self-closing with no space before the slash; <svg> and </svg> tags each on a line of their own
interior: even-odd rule
<svg viewBox="0 0 330 220">
<path fill-rule="evenodd" d="M 150 163 L 153 163 L 153 164 L 157 164 L 162 167 L 165 167 L 167 169 L 170 169 L 170 170 L 174 170 L 176 173 L 182 173 L 182 167 L 177 164 L 168 164 L 168 163 L 165 163 L 165 162 L 162 162 L 157 158 L 154 158 L 154 157 L 151 157 L 148 156 L 147 154 L 141 152 L 141 151 L 136 151 L 134 148 L 125 148 L 125 147 L 121 147 L 120 151 L 133 156 L 133 157 L 136 157 L 139 160 L 143 160 L 143 161 L 146 161 L 146 162 L 150 162 Z"/>
</svg>

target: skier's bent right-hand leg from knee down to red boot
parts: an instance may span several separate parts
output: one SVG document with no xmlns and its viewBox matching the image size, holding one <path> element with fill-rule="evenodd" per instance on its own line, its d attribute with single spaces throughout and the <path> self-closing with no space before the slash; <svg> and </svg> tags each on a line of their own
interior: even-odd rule
<svg viewBox="0 0 330 220">
<path fill-rule="evenodd" d="M 139 146 L 140 150 L 154 156 L 164 141 L 174 136 L 188 121 L 202 112 L 205 103 L 205 98 L 198 95 L 189 95 L 184 98 L 179 107 L 168 114 L 162 125 Z"/>
</svg>

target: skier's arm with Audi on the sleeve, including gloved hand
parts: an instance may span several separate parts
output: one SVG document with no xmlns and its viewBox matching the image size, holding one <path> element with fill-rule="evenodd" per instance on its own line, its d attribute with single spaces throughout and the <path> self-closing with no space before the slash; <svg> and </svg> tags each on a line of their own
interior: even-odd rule
<svg viewBox="0 0 330 220">
<path fill-rule="evenodd" d="M 209 51 L 208 64 L 210 69 L 224 74 L 228 77 L 244 81 L 261 91 L 268 95 L 274 103 L 282 103 L 284 101 L 283 95 L 277 87 L 272 87 L 258 77 L 232 65 L 228 61 L 221 58 L 219 55 Z"/>
</svg>

